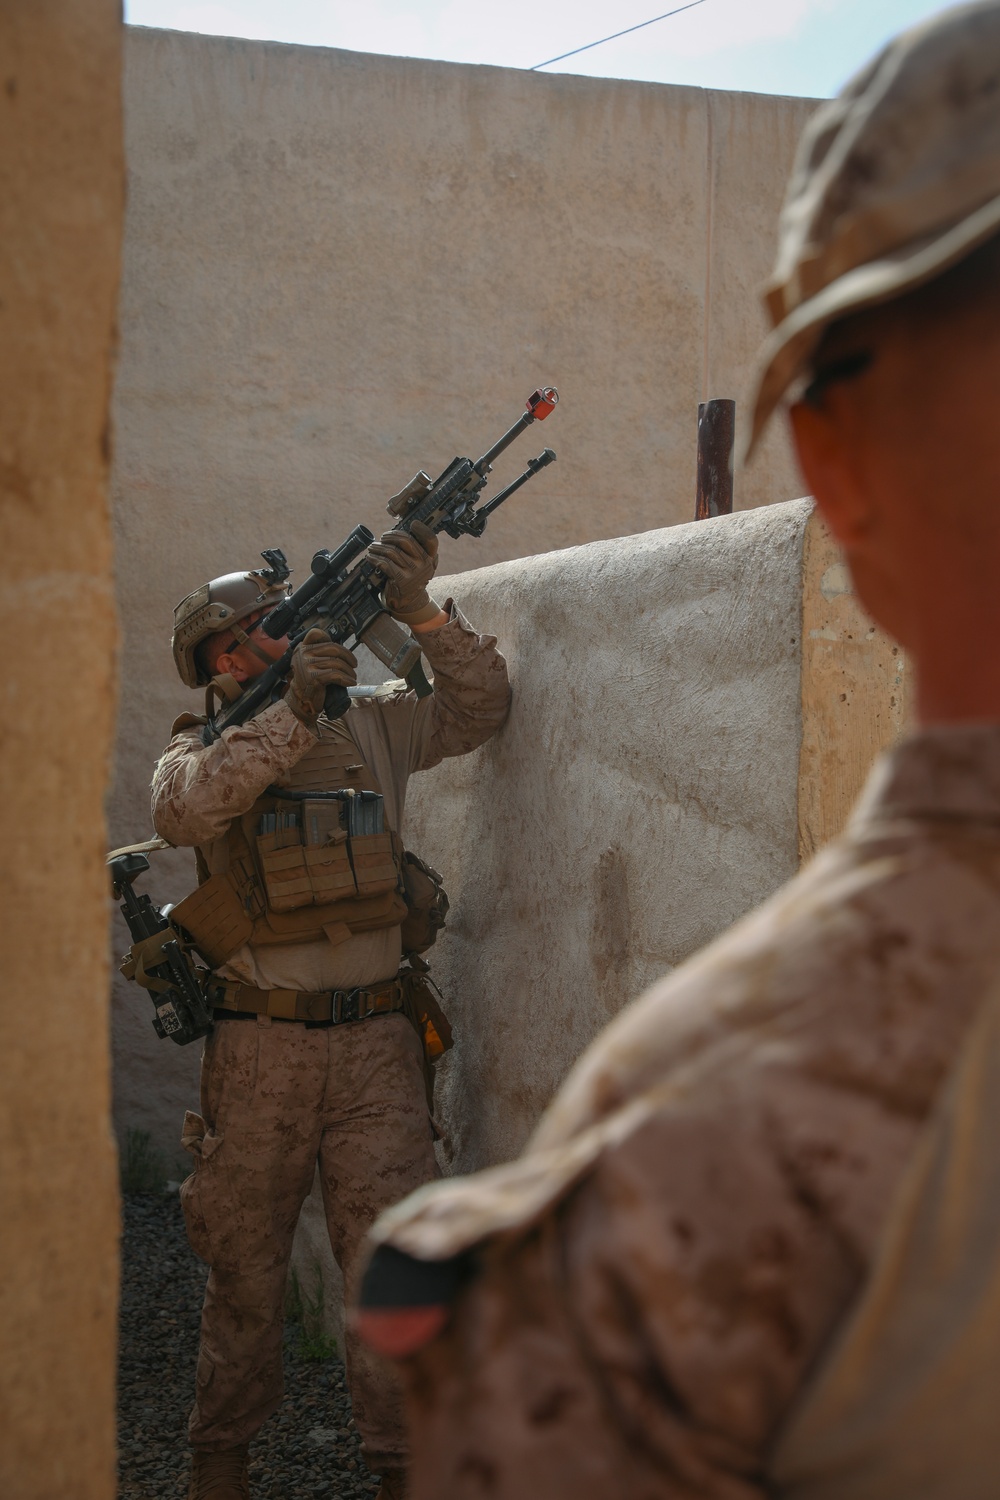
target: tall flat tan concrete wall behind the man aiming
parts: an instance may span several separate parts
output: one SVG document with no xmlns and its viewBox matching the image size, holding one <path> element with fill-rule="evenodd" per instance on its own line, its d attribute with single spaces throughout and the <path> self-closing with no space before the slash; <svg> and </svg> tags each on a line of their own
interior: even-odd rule
<svg viewBox="0 0 1000 1500">
<path fill-rule="evenodd" d="M 114 843 L 148 831 L 150 768 L 193 704 L 175 600 L 276 543 L 301 578 L 316 544 L 381 530 L 417 466 L 478 456 L 538 381 L 562 404 L 498 478 L 544 444 L 559 462 L 481 542 L 445 540 L 447 570 L 693 514 L 697 402 L 741 393 L 811 110 L 144 30 L 124 98 Z M 796 488 L 775 424 L 738 500 Z M 189 860 L 160 870 L 180 896 Z M 196 1059 L 142 1005 L 120 988 L 117 1118 L 172 1152 Z"/>
</svg>

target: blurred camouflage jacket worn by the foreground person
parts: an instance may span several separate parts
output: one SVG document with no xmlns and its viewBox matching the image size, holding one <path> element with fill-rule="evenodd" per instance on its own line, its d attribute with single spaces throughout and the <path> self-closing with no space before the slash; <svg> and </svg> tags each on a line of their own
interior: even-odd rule
<svg viewBox="0 0 1000 1500">
<path fill-rule="evenodd" d="M 403 1370 L 414 1500 L 759 1500 L 1000 958 L 1000 726 L 630 1006 L 520 1161 L 375 1239 L 465 1280 Z"/>
</svg>

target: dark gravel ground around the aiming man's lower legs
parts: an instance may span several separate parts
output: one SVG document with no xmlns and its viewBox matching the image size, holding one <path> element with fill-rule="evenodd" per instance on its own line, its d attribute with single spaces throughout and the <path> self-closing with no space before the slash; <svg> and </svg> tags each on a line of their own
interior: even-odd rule
<svg viewBox="0 0 1000 1500">
<path fill-rule="evenodd" d="M 177 1196 L 124 1198 L 118 1350 L 118 1500 L 183 1500 L 205 1268 Z M 309 1360 L 285 1329 L 285 1401 L 250 1444 L 255 1500 L 367 1500 L 339 1359 Z"/>
</svg>

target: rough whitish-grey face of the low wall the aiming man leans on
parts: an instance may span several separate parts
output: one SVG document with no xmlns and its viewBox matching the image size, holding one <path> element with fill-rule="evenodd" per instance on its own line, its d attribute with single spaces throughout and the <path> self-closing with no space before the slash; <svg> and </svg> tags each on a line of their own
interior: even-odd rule
<svg viewBox="0 0 1000 1500">
<path fill-rule="evenodd" d="M 454 896 L 433 954 L 453 1170 L 514 1155 L 597 1032 L 795 873 L 810 510 L 450 580 L 514 690 L 504 730 L 408 796 Z"/>
</svg>

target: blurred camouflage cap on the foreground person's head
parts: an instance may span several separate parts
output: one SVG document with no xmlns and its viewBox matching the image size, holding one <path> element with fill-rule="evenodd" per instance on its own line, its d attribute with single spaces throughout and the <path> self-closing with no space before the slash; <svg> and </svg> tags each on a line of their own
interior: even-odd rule
<svg viewBox="0 0 1000 1500">
<path fill-rule="evenodd" d="M 979 0 L 895 38 L 807 124 L 747 456 L 828 324 L 933 280 L 999 230 L 1000 0 Z"/>
</svg>

